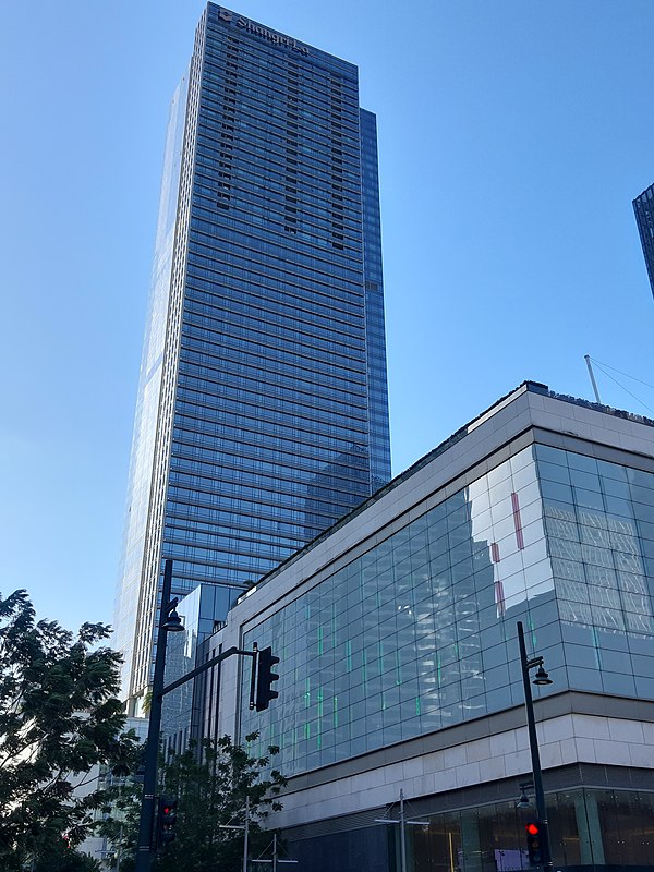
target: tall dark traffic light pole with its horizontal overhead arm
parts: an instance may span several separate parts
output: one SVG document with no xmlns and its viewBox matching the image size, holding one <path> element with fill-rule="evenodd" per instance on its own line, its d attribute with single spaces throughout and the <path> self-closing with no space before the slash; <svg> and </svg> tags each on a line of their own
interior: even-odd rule
<svg viewBox="0 0 654 872">
<path fill-rule="evenodd" d="M 233 654 L 241 654 L 242 656 L 254 657 L 256 659 L 257 651 L 254 645 L 254 651 L 241 651 L 238 647 L 230 647 L 220 654 L 217 654 L 211 659 L 203 663 L 202 666 L 193 669 L 186 675 L 179 678 L 177 681 L 164 687 L 164 673 L 166 667 L 166 642 L 168 632 L 166 622 L 169 617 L 170 610 L 177 604 L 177 600 L 170 600 L 170 591 L 172 586 L 172 560 L 166 560 L 164 569 L 164 586 L 161 590 L 161 609 L 159 614 L 159 628 L 157 632 L 157 653 L 155 655 L 155 675 L 153 679 L 153 698 L 149 711 L 149 720 L 147 725 L 147 740 L 145 744 L 145 774 L 143 778 L 143 797 L 141 800 L 141 818 L 138 822 L 138 843 L 136 849 L 136 865 L 135 872 L 149 872 L 153 859 L 153 828 L 155 816 L 155 803 L 157 791 L 157 762 L 159 754 L 159 732 L 161 729 L 161 707 L 164 704 L 164 697 L 175 690 L 181 685 L 190 681 L 195 676 L 210 669 L 211 666 L 226 661 Z M 179 618 L 178 618 L 179 621 Z M 251 702 L 253 702 L 251 700 Z"/>
</svg>

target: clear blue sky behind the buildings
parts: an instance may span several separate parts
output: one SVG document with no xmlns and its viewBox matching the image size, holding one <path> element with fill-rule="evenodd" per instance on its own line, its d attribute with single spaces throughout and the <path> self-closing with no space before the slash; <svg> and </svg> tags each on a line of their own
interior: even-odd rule
<svg viewBox="0 0 654 872">
<path fill-rule="evenodd" d="M 0 5 L 0 591 L 112 617 L 168 102 L 199 0 Z M 651 0 L 241 0 L 377 113 L 393 472 L 525 378 L 650 384 Z M 654 390 L 597 372 L 603 401 Z"/>
</svg>

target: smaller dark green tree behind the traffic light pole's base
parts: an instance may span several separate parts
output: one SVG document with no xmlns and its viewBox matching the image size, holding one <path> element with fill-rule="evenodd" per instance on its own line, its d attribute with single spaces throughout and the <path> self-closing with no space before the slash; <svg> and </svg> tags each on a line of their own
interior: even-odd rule
<svg viewBox="0 0 654 872">
<path fill-rule="evenodd" d="M 245 737 L 254 742 L 257 734 Z M 199 750 L 199 753 L 198 753 Z M 228 736 L 217 742 L 205 740 L 201 749 L 190 748 L 160 763 L 160 796 L 177 799 L 177 838 L 157 855 L 153 872 L 240 872 L 243 867 L 243 831 L 223 829 L 222 825 L 242 826 L 249 804 L 250 856 L 256 857 L 269 843 L 270 835 L 261 823 L 270 810 L 281 809 L 277 797 L 286 778 L 270 768 L 278 748 L 268 748 L 262 758 L 250 756 L 247 748 L 234 744 Z M 121 850 L 121 870 L 133 869 L 140 792 L 136 786 L 122 787 L 100 833 Z"/>
</svg>

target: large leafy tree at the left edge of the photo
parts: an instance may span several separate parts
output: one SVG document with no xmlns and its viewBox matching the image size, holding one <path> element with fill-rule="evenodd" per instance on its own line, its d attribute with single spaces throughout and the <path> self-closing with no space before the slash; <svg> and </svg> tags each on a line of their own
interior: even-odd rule
<svg viewBox="0 0 654 872">
<path fill-rule="evenodd" d="M 136 740 L 121 736 L 120 655 L 110 634 L 84 623 L 76 635 L 36 620 L 25 591 L 0 595 L 0 868 L 52 861 L 93 825 L 102 792 L 76 795 L 89 771 L 131 771 Z M 52 865 L 55 868 L 55 865 Z"/>
</svg>

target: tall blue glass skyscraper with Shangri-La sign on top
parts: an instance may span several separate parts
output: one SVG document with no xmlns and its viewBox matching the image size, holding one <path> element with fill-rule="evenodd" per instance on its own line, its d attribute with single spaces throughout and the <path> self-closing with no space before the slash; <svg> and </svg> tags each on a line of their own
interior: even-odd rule
<svg viewBox="0 0 654 872">
<path fill-rule="evenodd" d="M 234 596 L 390 477 L 375 117 L 351 63 L 209 3 L 172 101 L 118 641 Z"/>
</svg>

